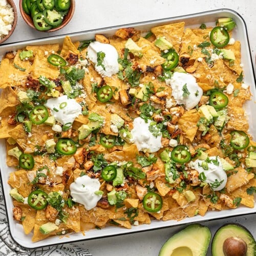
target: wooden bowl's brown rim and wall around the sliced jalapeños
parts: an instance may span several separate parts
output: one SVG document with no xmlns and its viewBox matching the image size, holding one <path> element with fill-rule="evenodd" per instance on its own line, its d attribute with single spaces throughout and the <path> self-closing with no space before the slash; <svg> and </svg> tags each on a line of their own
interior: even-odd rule
<svg viewBox="0 0 256 256">
<path fill-rule="evenodd" d="M 25 22 L 31 28 L 36 29 L 35 26 L 34 26 L 34 23 L 33 23 L 33 19 L 31 18 L 30 15 L 26 14 L 25 11 L 22 8 L 22 0 L 19 0 L 19 10 L 20 10 L 20 13 L 22 14 L 22 17 L 25 20 Z M 37 30 L 37 29 L 36 30 L 40 31 L 40 32 L 54 32 L 54 31 L 57 31 L 59 29 L 62 29 L 63 27 L 65 27 L 70 22 L 70 20 L 72 19 L 73 15 L 74 15 L 74 12 L 75 12 L 75 0 L 71 0 L 71 5 L 70 5 L 70 8 L 69 8 L 69 12 L 63 18 L 63 22 L 61 23 L 60 26 L 58 26 L 57 28 L 53 28 L 53 29 L 49 29 L 49 30 L 45 30 L 45 31 L 40 31 L 40 30 Z"/>
</svg>

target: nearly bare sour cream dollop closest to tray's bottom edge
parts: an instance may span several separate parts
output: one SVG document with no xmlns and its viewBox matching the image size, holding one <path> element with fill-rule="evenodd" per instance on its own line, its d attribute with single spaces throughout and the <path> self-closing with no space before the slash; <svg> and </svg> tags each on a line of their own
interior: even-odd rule
<svg viewBox="0 0 256 256">
<path fill-rule="evenodd" d="M 100 182 L 98 179 L 83 175 L 70 184 L 70 194 L 74 202 L 83 204 L 87 210 L 91 210 L 102 197 L 98 193 L 95 194 L 96 191 L 99 191 L 99 188 Z"/>
</svg>

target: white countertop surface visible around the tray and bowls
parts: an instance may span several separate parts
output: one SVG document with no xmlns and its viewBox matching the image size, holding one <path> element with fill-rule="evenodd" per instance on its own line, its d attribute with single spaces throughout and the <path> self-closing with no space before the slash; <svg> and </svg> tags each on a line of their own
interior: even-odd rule
<svg viewBox="0 0 256 256">
<path fill-rule="evenodd" d="M 18 10 L 17 27 L 6 43 L 23 41 L 40 37 L 67 34 L 103 27 L 124 25 L 146 20 L 180 16 L 214 9 L 228 8 L 238 12 L 245 20 L 249 44 L 253 58 L 254 73 L 256 53 L 256 5 L 255 0 L 76 0 L 76 10 L 71 22 L 62 30 L 42 33 L 28 27 L 19 12 L 18 0 L 14 0 Z M 212 232 L 225 223 L 236 222 L 244 225 L 256 238 L 256 215 L 232 217 L 223 220 L 203 222 Z M 118 237 L 90 240 L 77 243 L 89 248 L 94 256 L 99 255 L 158 255 L 162 244 L 172 234 L 184 226 L 169 227 Z M 209 250 L 210 251 L 210 250 Z M 208 252 L 207 255 L 211 255 Z M 182 256 L 182 255 L 181 255 Z"/>
</svg>

